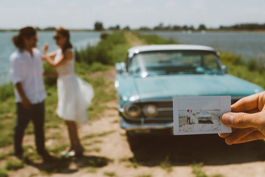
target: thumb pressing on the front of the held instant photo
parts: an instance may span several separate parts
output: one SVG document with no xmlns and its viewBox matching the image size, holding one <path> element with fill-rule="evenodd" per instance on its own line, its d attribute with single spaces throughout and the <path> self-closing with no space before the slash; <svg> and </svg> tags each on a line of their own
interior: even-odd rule
<svg viewBox="0 0 265 177">
<path fill-rule="evenodd" d="M 254 127 L 258 128 L 259 126 L 259 114 L 247 114 L 243 112 L 234 113 L 234 112 L 228 112 L 223 114 L 222 116 L 222 122 L 223 124 L 229 126 L 229 127 L 235 127 L 235 128 L 248 128 L 248 127 Z"/>
</svg>

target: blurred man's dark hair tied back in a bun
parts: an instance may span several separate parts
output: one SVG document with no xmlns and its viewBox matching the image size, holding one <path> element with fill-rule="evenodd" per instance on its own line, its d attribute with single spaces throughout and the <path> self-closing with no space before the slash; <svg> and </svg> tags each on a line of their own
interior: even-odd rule
<svg viewBox="0 0 265 177">
<path fill-rule="evenodd" d="M 25 49 L 23 38 L 25 37 L 29 39 L 36 34 L 36 30 L 33 27 L 24 27 L 19 30 L 18 35 L 12 37 L 12 42 L 20 51 L 22 51 L 23 49 Z"/>
</svg>

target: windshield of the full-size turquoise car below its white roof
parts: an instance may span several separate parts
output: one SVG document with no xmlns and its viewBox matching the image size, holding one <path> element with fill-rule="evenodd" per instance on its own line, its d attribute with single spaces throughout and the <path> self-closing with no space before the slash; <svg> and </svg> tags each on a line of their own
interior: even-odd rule
<svg viewBox="0 0 265 177">
<path fill-rule="evenodd" d="M 218 56 L 211 51 L 151 51 L 134 54 L 130 74 L 221 74 Z"/>
</svg>

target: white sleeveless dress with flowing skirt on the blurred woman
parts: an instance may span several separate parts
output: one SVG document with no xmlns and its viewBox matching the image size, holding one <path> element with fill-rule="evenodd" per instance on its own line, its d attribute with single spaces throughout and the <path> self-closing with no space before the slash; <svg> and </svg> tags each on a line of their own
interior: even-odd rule
<svg viewBox="0 0 265 177">
<path fill-rule="evenodd" d="M 70 49 L 68 49 L 70 50 Z M 58 49 L 54 61 L 62 57 Z M 75 76 L 75 60 L 57 67 L 58 105 L 56 112 L 64 120 L 75 121 L 78 125 L 88 122 L 87 108 L 94 97 L 92 86 Z"/>
</svg>

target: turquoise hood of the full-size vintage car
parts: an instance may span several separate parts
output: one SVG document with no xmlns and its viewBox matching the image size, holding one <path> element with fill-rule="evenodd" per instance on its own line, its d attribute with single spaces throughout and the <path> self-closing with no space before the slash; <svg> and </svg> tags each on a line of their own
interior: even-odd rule
<svg viewBox="0 0 265 177">
<path fill-rule="evenodd" d="M 157 75 L 134 78 L 141 100 L 172 96 L 247 96 L 263 91 L 260 86 L 228 74 Z"/>
</svg>

